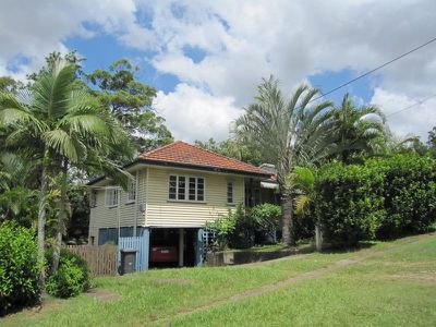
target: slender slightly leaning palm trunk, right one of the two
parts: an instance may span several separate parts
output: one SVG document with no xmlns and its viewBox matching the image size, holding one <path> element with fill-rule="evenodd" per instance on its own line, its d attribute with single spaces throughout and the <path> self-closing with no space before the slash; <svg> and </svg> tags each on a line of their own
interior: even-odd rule
<svg viewBox="0 0 436 327">
<path fill-rule="evenodd" d="M 63 225 L 66 220 L 66 178 L 68 178 L 68 160 L 64 159 L 62 165 L 61 198 L 59 205 L 55 251 L 51 265 L 52 272 L 58 271 L 59 259 L 61 257 Z"/>
</svg>

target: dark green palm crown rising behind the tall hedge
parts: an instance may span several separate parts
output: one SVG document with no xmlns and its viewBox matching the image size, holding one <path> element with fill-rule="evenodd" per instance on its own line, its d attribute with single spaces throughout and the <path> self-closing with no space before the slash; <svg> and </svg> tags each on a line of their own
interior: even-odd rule
<svg viewBox="0 0 436 327">
<path fill-rule="evenodd" d="M 384 147 L 388 129 L 386 117 L 377 106 L 356 107 L 346 94 L 334 112 L 338 155 L 342 162 L 350 164 L 353 154 L 372 155 Z"/>
</svg>

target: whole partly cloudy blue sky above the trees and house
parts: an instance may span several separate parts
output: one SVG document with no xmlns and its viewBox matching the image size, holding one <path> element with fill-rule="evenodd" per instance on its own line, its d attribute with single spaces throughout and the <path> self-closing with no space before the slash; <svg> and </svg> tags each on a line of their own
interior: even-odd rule
<svg viewBox="0 0 436 327">
<path fill-rule="evenodd" d="M 53 50 L 84 70 L 120 58 L 158 89 L 154 110 L 177 140 L 218 141 L 274 75 L 328 92 L 436 37 L 434 0 L 3 0 L 0 75 L 23 80 Z M 374 104 L 398 136 L 436 125 L 436 43 L 329 96 Z M 393 113 L 413 104 L 412 108 Z"/>
</svg>

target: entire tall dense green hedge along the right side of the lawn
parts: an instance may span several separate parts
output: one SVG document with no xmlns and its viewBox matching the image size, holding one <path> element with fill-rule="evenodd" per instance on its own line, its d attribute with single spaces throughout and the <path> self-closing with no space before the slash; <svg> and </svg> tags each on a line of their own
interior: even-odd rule
<svg viewBox="0 0 436 327">
<path fill-rule="evenodd" d="M 436 218 L 436 161 L 398 155 L 362 166 L 331 162 L 315 192 L 315 215 L 334 245 L 425 232 Z"/>
</svg>

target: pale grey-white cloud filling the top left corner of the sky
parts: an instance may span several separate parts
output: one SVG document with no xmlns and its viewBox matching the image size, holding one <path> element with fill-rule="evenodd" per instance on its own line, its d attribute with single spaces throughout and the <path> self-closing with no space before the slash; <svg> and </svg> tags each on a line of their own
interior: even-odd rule
<svg viewBox="0 0 436 327">
<path fill-rule="evenodd" d="M 95 27 L 99 32 L 113 33 L 129 41 L 124 34 L 135 35 L 135 11 L 133 0 L 106 1 L 25 1 L 7 0 L 0 11 L 0 72 L 25 76 L 39 69 L 50 51 L 68 49 L 64 40 L 71 36 L 93 37 Z M 137 34 L 143 37 L 143 34 Z M 9 69 L 19 57 L 26 58 L 24 64 Z"/>
</svg>

